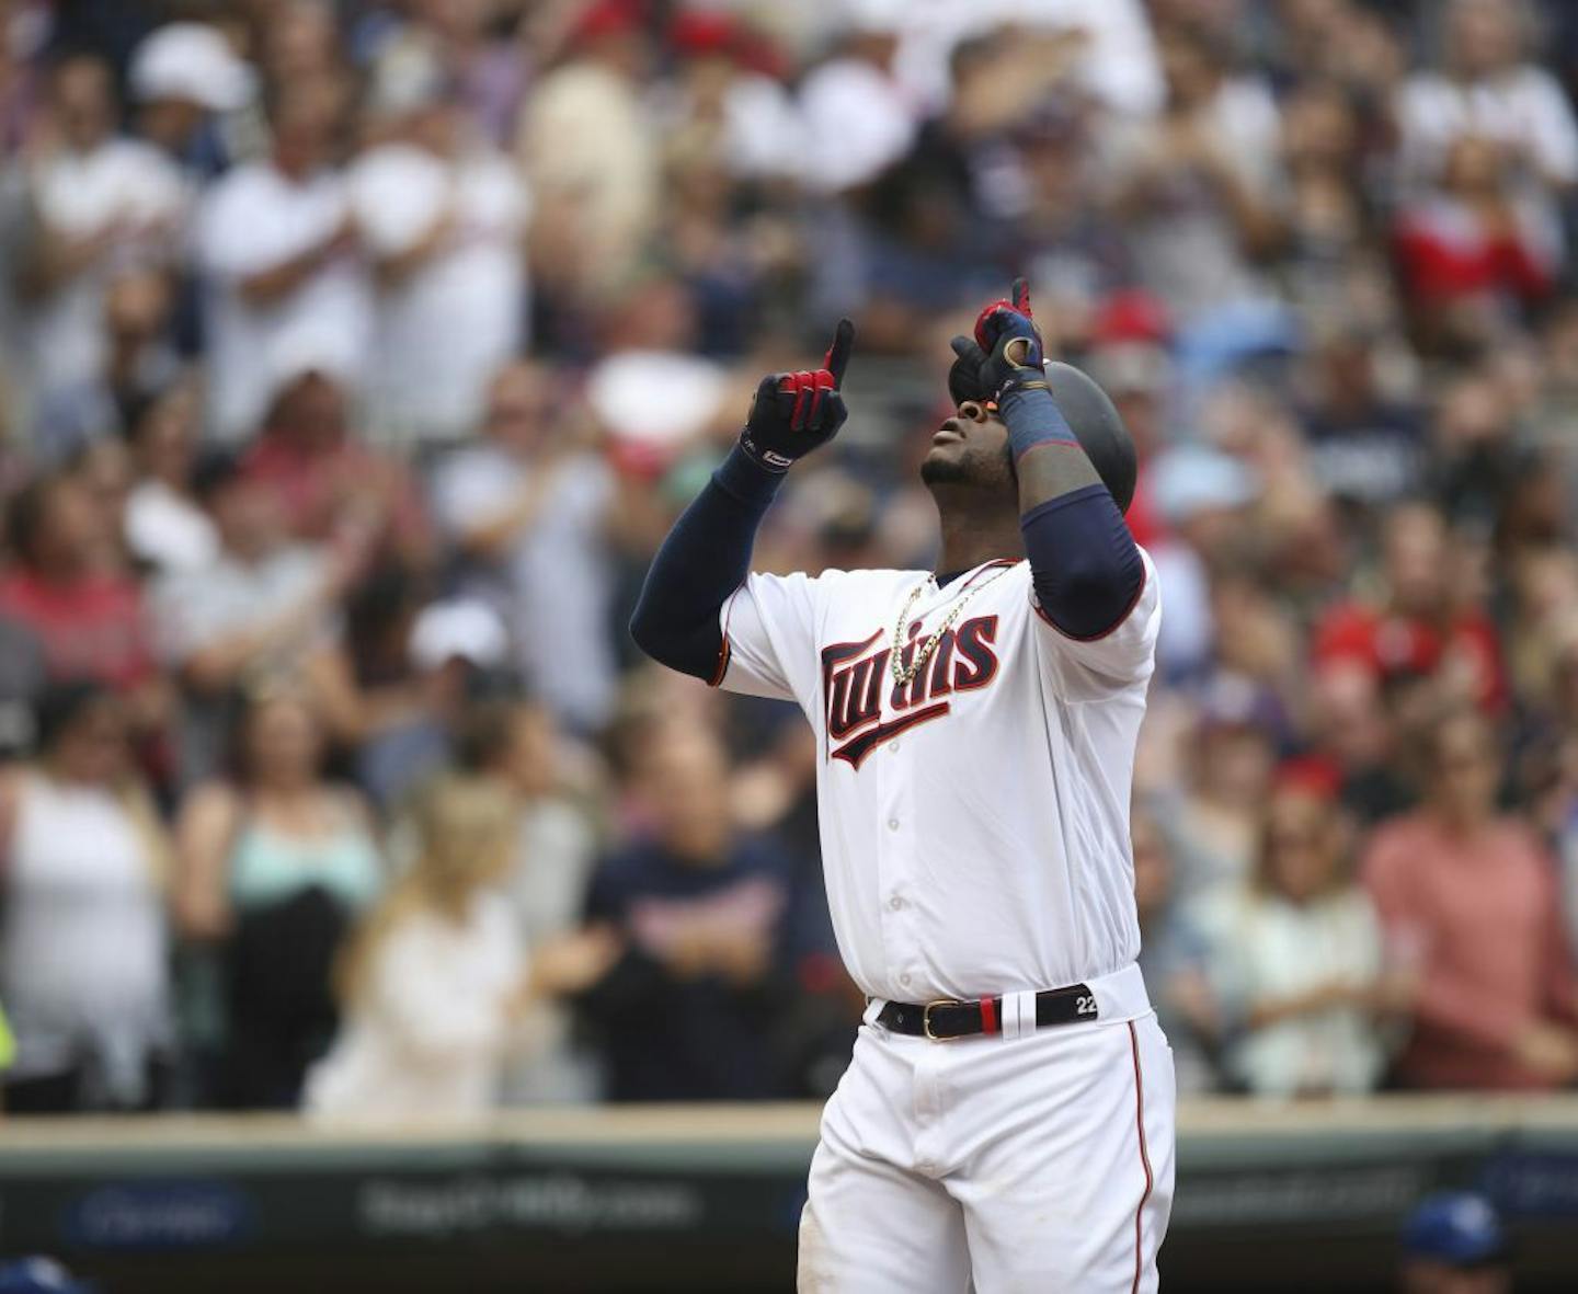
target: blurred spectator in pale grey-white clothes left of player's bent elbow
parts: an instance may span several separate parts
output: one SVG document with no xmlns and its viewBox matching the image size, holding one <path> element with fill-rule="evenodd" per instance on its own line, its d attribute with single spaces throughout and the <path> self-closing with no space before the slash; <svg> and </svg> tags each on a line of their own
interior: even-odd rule
<svg viewBox="0 0 1578 1294">
<path fill-rule="evenodd" d="M 555 420 L 557 374 L 503 369 L 488 393 L 483 440 L 440 466 L 434 514 L 461 557 L 459 582 L 510 625 L 521 677 L 570 729 L 609 716 L 615 660 L 606 548 L 614 478 Z"/>
</svg>

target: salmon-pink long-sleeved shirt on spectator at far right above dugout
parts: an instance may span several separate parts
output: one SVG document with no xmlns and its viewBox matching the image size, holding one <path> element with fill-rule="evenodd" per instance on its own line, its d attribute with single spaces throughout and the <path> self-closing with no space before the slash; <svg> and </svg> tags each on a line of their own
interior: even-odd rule
<svg viewBox="0 0 1578 1294">
<path fill-rule="evenodd" d="M 1554 863 L 1520 822 L 1449 835 L 1430 814 L 1376 830 L 1363 879 L 1389 936 L 1419 958 L 1398 1073 L 1417 1087 L 1554 1087 L 1512 1054 L 1531 1024 L 1578 1021 Z"/>
</svg>

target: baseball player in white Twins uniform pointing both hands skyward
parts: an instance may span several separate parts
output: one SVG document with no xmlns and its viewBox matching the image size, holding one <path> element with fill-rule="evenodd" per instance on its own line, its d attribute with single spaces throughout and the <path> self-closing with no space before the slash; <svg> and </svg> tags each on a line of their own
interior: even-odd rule
<svg viewBox="0 0 1578 1294">
<path fill-rule="evenodd" d="M 1135 966 L 1161 612 L 1124 522 L 1133 445 L 1095 383 L 1043 363 L 1019 279 L 953 341 L 958 407 L 922 464 L 936 573 L 751 574 L 784 472 L 844 421 L 852 342 L 846 319 L 824 368 L 762 380 L 631 622 L 674 669 L 797 702 L 821 746 L 828 906 L 869 1005 L 798 1288 L 1155 1289 L 1174 1084 Z"/>
</svg>

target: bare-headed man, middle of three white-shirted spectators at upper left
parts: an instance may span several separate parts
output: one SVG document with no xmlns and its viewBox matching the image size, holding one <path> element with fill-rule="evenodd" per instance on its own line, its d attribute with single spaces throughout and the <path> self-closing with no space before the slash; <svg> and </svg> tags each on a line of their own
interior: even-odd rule
<svg viewBox="0 0 1578 1294">
<path fill-rule="evenodd" d="M 243 440 L 267 412 L 281 352 L 308 336 L 355 380 L 371 331 L 366 270 L 336 166 L 342 85 L 292 84 L 268 104 L 267 158 L 216 181 L 197 211 L 211 432 Z"/>
</svg>

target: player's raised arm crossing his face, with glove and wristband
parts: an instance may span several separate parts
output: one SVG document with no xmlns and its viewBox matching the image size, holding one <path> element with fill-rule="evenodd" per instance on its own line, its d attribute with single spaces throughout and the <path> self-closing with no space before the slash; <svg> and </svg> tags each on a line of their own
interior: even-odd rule
<svg viewBox="0 0 1578 1294">
<path fill-rule="evenodd" d="M 956 369 L 996 401 L 1019 480 L 1019 530 L 1043 614 L 1071 638 L 1100 638 L 1138 600 L 1144 559 L 1046 380 L 1026 279 L 955 338 Z"/>
</svg>

